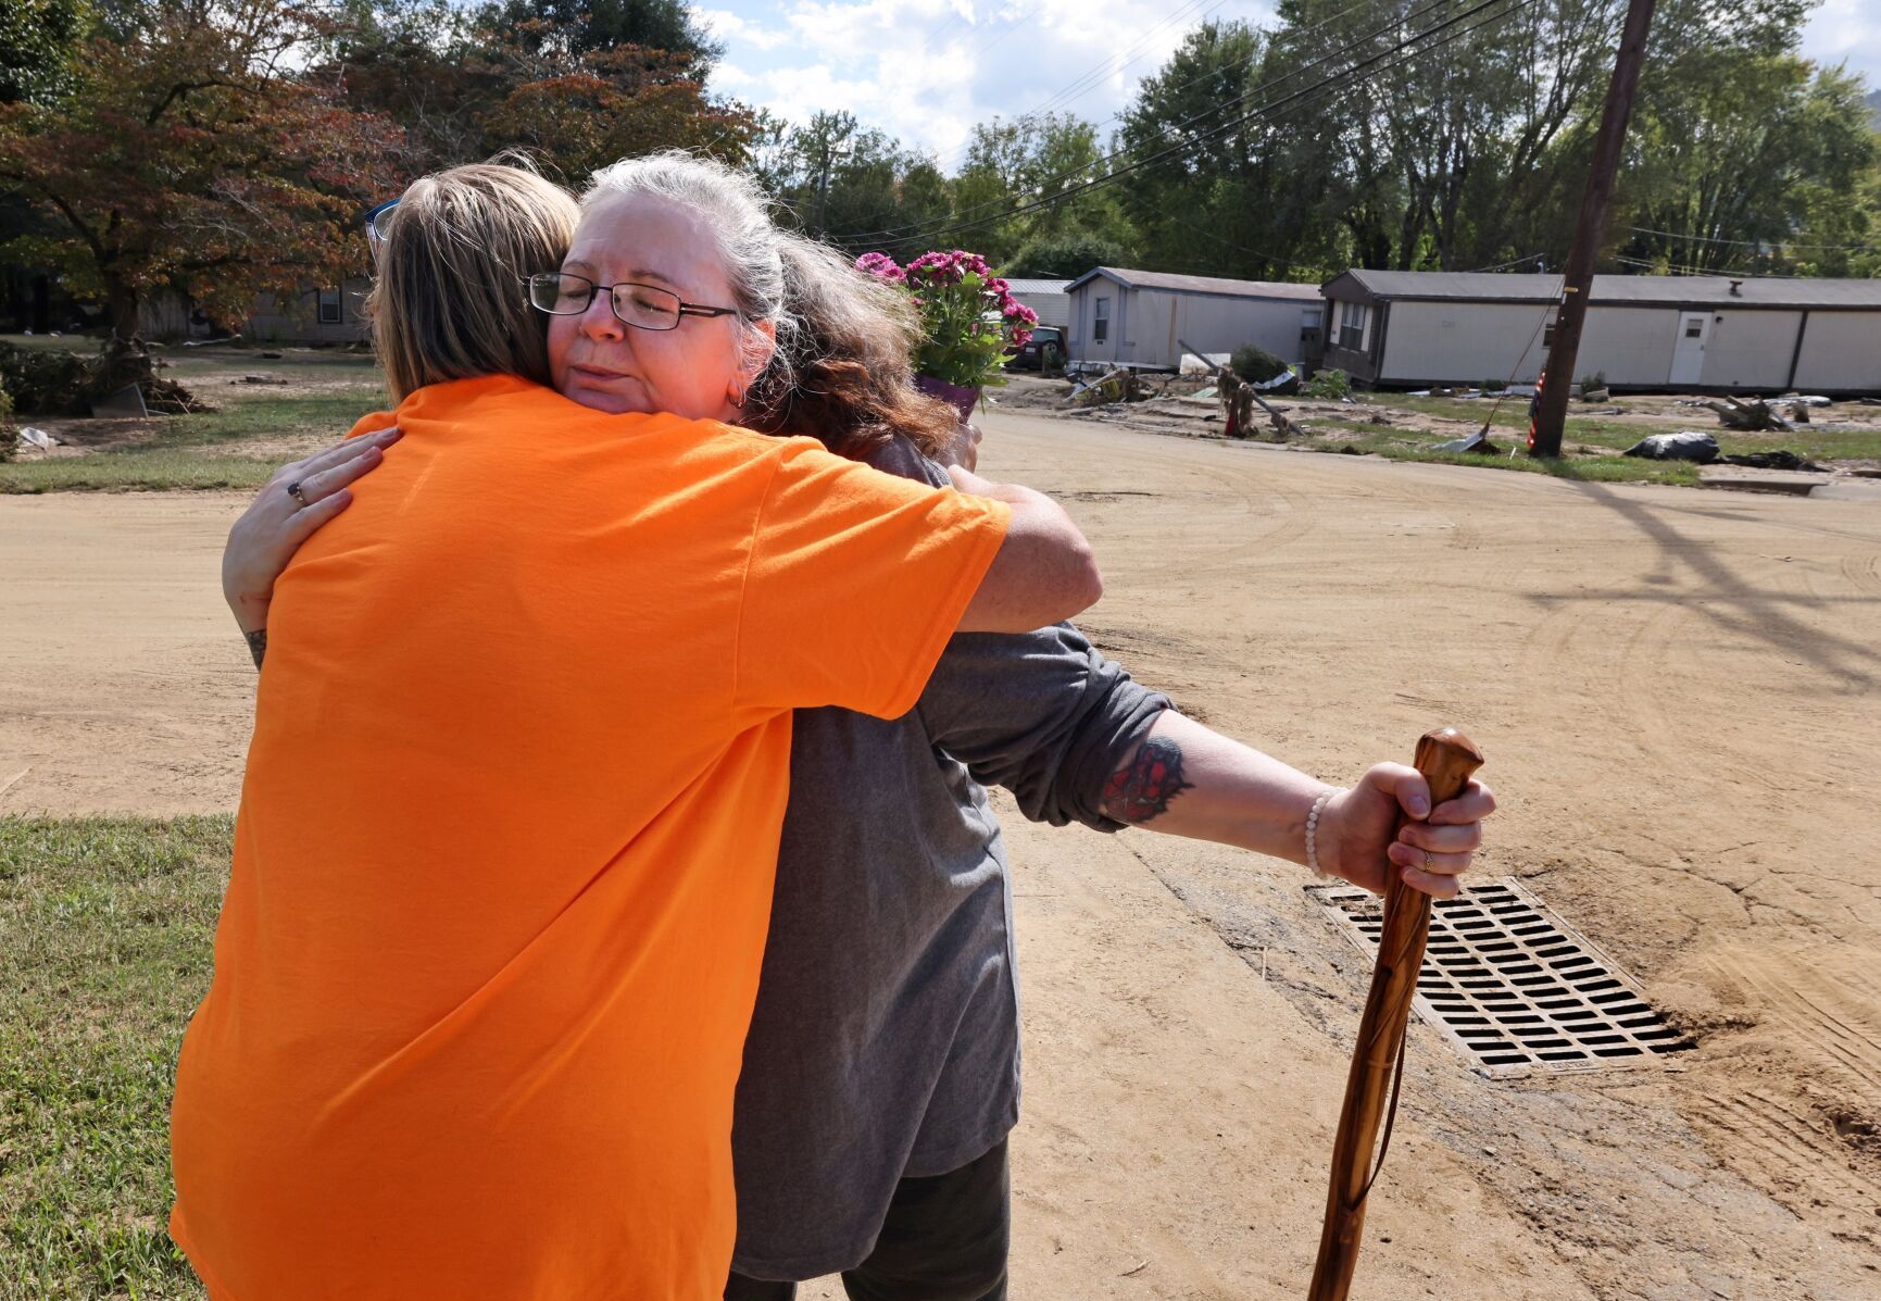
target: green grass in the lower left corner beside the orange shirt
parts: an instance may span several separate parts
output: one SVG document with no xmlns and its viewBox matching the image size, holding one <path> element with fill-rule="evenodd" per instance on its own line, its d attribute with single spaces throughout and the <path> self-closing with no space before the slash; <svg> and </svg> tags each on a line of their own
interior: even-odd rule
<svg viewBox="0 0 1881 1301">
<path fill-rule="evenodd" d="M 0 818 L 0 1301 L 203 1295 L 169 1092 L 231 816 Z"/>
</svg>

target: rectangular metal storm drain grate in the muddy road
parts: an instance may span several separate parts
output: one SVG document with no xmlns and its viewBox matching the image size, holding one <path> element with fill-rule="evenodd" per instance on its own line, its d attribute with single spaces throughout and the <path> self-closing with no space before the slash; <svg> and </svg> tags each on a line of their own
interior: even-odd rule
<svg viewBox="0 0 1881 1301">
<path fill-rule="evenodd" d="M 1377 961 L 1379 895 L 1307 893 Z M 1610 957 L 1514 880 L 1435 901 L 1413 1006 L 1490 1077 L 1644 1066 L 1691 1047 Z"/>
</svg>

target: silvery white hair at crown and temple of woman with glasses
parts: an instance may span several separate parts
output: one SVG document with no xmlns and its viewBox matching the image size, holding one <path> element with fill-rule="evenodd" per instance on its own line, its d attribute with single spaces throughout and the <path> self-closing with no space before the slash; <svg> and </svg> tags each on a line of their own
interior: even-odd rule
<svg viewBox="0 0 1881 1301">
<path fill-rule="evenodd" d="M 739 352 L 747 363 L 764 357 L 771 340 L 752 321 L 771 321 L 777 348 L 766 367 L 766 380 L 788 385 L 801 327 L 790 310 L 784 273 L 782 244 L 790 237 L 771 218 L 773 205 L 764 186 L 703 154 L 668 149 L 623 158 L 596 171 L 581 192 L 581 211 L 587 212 L 602 199 L 632 194 L 653 194 L 707 218 L 737 299 Z"/>
</svg>

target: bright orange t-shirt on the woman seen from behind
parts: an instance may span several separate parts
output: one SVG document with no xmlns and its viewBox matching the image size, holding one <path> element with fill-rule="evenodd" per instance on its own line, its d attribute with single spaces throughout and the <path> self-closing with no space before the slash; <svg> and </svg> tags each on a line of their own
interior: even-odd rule
<svg viewBox="0 0 1881 1301">
<path fill-rule="evenodd" d="M 218 1301 L 698 1301 L 790 711 L 910 709 L 999 502 L 442 384 L 282 575 L 171 1233 Z"/>
</svg>

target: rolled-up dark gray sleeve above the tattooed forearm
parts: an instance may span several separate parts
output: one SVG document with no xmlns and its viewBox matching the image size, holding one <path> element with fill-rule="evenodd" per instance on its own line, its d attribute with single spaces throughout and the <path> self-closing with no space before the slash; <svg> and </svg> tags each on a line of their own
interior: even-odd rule
<svg viewBox="0 0 1881 1301">
<path fill-rule="evenodd" d="M 1104 784 L 1170 699 L 1136 682 L 1070 624 L 1027 634 L 959 634 L 922 692 L 933 743 L 982 786 L 1003 786 L 1033 822 L 1097 831 Z"/>
</svg>

